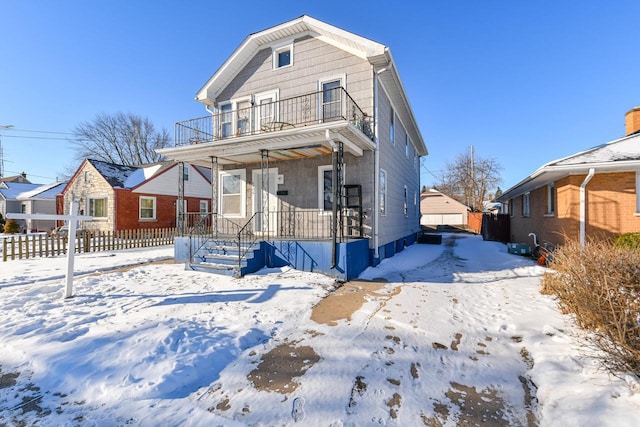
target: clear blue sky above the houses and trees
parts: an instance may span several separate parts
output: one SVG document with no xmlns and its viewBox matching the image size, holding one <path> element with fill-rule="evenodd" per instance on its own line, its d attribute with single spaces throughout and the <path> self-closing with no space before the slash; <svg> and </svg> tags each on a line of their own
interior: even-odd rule
<svg viewBox="0 0 640 427">
<path fill-rule="evenodd" d="M 389 46 L 430 152 L 423 185 L 473 146 L 507 189 L 623 136 L 640 105 L 637 0 L 0 0 L 5 175 L 75 169 L 66 133 L 98 113 L 173 133 L 206 115 L 196 91 L 248 34 L 303 14 Z"/>
</svg>

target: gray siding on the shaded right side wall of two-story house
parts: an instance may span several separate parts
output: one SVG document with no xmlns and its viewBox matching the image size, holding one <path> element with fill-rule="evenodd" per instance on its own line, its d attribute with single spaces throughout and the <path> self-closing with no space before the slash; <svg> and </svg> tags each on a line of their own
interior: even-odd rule
<svg viewBox="0 0 640 427">
<path fill-rule="evenodd" d="M 394 111 L 395 114 L 395 111 Z M 420 229 L 419 201 L 414 205 L 415 194 L 420 193 L 420 171 L 414 166 L 413 147 L 409 157 L 405 154 L 406 131 L 395 115 L 395 143 L 391 143 L 389 126 L 391 102 L 382 85 L 378 91 L 378 140 L 380 168 L 387 172 L 386 214 L 380 215 L 380 245 L 402 238 Z M 404 214 L 404 186 L 407 186 L 407 215 Z"/>
</svg>

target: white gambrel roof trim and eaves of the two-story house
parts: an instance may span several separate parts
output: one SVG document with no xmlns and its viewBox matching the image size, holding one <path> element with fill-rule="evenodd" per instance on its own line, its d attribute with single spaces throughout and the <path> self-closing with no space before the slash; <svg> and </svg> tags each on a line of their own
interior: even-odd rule
<svg viewBox="0 0 640 427">
<path fill-rule="evenodd" d="M 391 98 L 396 113 L 403 118 L 407 132 L 414 142 L 418 155 L 426 156 L 428 150 L 415 115 L 398 75 L 389 48 L 341 28 L 334 27 L 308 15 L 250 34 L 207 80 L 196 93 L 195 99 L 205 105 L 214 105 L 216 98 L 232 79 L 249 63 L 255 54 L 265 48 L 278 46 L 288 40 L 310 35 L 327 44 L 369 61 Z"/>
</svg>

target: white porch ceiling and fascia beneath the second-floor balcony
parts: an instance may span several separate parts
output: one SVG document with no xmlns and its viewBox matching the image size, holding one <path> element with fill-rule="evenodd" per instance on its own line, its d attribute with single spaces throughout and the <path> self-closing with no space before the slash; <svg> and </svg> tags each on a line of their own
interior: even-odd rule
<svg viewBox="0 0 640 427">
<path fill-rule="evenodd" d="M 209 167 L 212 157 L 217 157 L 221 165 L 257 163 L 261 161 L 262 150 L 269 152 L 271 161 L 327 156 L 333 151 L 333 142 L 342 142 L 346 152 L 358 157 L 375 148 L 374 142 L 351 123 L 336 122 L 163 148 L 157 152 L 168 160 Z"/>
</svg>

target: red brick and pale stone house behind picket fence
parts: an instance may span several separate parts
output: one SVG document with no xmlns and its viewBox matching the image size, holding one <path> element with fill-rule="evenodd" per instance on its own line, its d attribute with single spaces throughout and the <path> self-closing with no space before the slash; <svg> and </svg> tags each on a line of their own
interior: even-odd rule
<svg viewBox="0 0 640 427">
<path fill-rule="evenodd" d="M 86 159 L 58 196 L 57 212 L 69 213 L 79 200 L 81 214 L 93 216 L 82 228 L 121 231 L 176 226 L 178 165 L 160 162 L 125 166 Z M 184 166 L 184 204 L 187 212 L 211 207 L 211 171 Z"/>
</svg>

